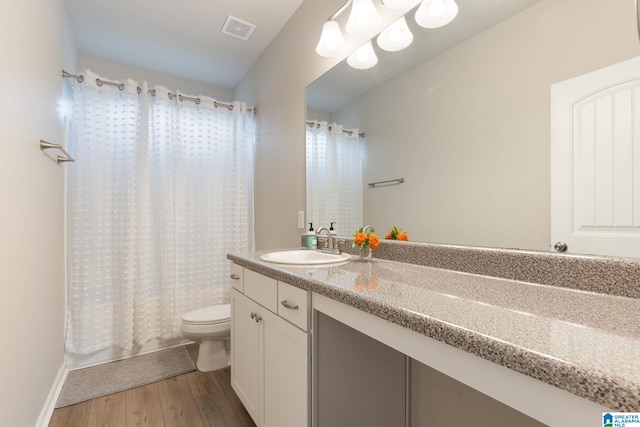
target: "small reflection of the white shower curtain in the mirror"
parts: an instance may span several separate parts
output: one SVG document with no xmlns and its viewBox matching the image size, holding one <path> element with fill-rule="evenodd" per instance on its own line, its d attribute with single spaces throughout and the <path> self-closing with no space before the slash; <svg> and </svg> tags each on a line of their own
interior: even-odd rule
<svg viewBox="0 0 640 427">
<path fill-rule="evenodd" d="M 364 138 L 358 129 L 314 121 L 307 126 L 307 222 L 352 235 L 362 226 Z"/>
</svg>

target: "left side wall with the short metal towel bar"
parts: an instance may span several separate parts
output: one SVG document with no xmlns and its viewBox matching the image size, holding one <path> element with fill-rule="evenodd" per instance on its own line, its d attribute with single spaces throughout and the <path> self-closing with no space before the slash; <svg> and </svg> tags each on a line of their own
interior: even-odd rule
<svg viewBox="0 0 640 427">
<path fill-rule="evenodd" d="M 62 0 L 2 2 L 0 425 L 33 426 L 63 365 L 64 173 L 57 104 L 75 47 Z"/>
</svg>

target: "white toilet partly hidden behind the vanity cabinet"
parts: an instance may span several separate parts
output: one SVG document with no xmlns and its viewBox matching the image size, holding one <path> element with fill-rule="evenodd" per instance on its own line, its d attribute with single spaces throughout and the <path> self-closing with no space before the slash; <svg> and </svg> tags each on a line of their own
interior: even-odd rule
<svg viewBox="0 0 640 427">
<path fill-rule="evenodd" d="M 200 343 L 196 367 L 215 371 L 229 366 L 231 304 L 199 308 L 182 316 L 182 336 Z"/>
</svg>

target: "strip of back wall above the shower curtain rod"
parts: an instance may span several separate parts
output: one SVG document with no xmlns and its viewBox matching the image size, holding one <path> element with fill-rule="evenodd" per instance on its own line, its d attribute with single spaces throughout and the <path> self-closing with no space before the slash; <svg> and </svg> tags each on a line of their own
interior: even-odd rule
<svg viewBox="0 0 640 427">
<path fill-rule="evenodd" d="M 105 79 L 125 80 L 133 79 L 139 82 L 147 81 L 150 85 L 161 85 L 170 90 L 179 90 L 188 95 L 205 95 L 222 102 L 234 101 L 231 89 L 213 86 L 208 83 L 189 80 L 183 77 L 160 73 L 121 62 L 98 58 L 96 56 L 79 54 L 78 72 L 89 69 Z M 74 70 L 75 71 L 75 70 Z"/>
</svg>

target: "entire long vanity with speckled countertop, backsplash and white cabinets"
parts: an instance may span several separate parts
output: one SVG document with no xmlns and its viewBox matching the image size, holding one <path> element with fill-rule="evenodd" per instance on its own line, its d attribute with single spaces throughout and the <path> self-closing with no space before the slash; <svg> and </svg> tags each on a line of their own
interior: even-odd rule
<svg viewBox="0 0 640 427">
<path fill-rule="evenodd" d="M 506 408 L 486 425 L 598 426 L 603 412 L 640 411 L 640 262 L 414 245 L 401 246 L 407 262 L 319 267 L 228 255 L 232 385 L 258 426 L 364 414 L 483 425 L 451 401 L 471 393 Z M 379 255 L 397 259 L 389 248 Z M 447 268 L 456 256 L 462 271 Z"/>
</svg>

